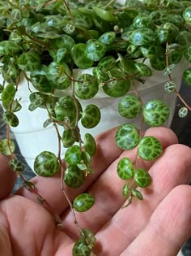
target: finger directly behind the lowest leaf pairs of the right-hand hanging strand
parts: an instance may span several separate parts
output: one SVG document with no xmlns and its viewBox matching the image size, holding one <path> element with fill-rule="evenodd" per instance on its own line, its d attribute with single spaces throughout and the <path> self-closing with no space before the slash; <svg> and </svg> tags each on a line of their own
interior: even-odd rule
<svg viewBox="0 0 191 256">
<path fill-rule="evenodd" d="M 177 142 L 175 134 L 168 128 L 151 128 L 146 132 L 146 136 L 147 135 L 157 137 L 163 145 L 163 148 Z M 124 151 L 120 158 L 128 156 L 133 162 L 136 154 L 137 149 Z M 76 213 L 82 227 L 87 225 L 93 232 L 97 232 L 104 223 L 107 223 L 125 201 L 122 197 L 122 187 L 125 181 L 117 176 L 118 161 L 119 158 L 117 158 L 117 160 L 108 167 L 108 170 L 104 171 L 99 180 L 96 180 L 91 188 L 88 189 L 88 192 L 96 199 L 95 206 L 93 206 L 91 210 L 83 213 L 83 215 Z M 154 162 L 146 162 L 142 161 L 142 159 L 138 159 L 137 165 L 149 169 L 153 163 Z M 91 218 L 89 216 L 91 216 Z M 70 210 L 62 216 L 62 219 L 64 219 L 65 230 L 67 230 L 70 236 L 75 237 L 75 228 L 70 227 L 72 221 Z"/>
</svg>

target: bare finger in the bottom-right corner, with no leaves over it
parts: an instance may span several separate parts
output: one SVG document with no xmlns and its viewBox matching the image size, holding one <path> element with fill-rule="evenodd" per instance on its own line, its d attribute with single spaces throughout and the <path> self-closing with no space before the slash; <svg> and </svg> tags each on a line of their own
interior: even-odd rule
<svg viewBox="0 0 191 256">
<path fill-rule="evenodd" d="M 121 254 L 175 256 L 191 234 L 191 188 L 173 189 L 157 207 L 149 223 Z"/>
</svg>

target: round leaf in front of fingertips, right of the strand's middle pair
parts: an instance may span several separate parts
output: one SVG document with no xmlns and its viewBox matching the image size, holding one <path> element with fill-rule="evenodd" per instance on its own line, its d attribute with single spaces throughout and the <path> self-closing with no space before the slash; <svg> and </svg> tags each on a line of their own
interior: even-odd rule
<svg viewBox="0 0 191 256">
<path fill-rule="evenodd" d="M 163 147 L 155 137 L 143 137 L 138 144 L 138 155 L 146 161 L 155 160 L 162 153 Z"/>
</svg>

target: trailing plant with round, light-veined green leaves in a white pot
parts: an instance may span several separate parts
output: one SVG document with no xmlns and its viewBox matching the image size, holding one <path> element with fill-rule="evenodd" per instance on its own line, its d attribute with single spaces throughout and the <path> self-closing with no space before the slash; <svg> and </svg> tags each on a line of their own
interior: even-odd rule
<svg viewBox="0 0 191 256">
<path fill-rule="evenodd" d="M 43 133 L 53 148 L 44 145 L 34 159 L 34 171 L 53 176 L 61 170 L 61 189 L 81 232 L 73 254 L 89 255 L 96 238 L 79 227 L 75 210 L 88 210 L 95 200 L 83 193 L 70 202 L 65 187 L 79 189 L 86 176 L 94 175 L 94 135 L 104 129 L 121 124 L 117 145 L 123 150 L 138 146 L 139 157 L 146 161 L 162 154 L 159 141 L 143 138 L 142 132 L 146 126 L 163 125 L 169 116 L 171 120 L 176 96 L 182 102 L 180 117 L 190 111 L 178 90 L 182 76 L 191 85 L 191 3 L 5 0 L 0 1 L 0 13 L 0 92 L 7 124 L 0 151 L 11 155 L 11 167 L 22 176 L 23 163 L 15 158 L 10 128 L 18 142 L 20 125 L 27 132 L 45 128 L 46 133 L 40 130 L 36 149 L 40 149 Z M 95 129 L 92 133 L 91 128 Z M 23 154 L 32 154 L 36 134 L 32 130 Z M 142 200 L 129 180 L 146 187 L 151 183 L 147 171 L 136 169 L 136 161 L 122 158 L 117 173 L 125 180 L 122 192 L 127 202 L 123 207 L 133 197 Z M 28 180 L 24 185 L 35 191 Z"/>
</svg>

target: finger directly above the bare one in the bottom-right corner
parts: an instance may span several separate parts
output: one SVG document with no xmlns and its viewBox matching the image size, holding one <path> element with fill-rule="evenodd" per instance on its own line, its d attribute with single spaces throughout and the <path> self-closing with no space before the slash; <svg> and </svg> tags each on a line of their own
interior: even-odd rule
<svg viewBox="0 0 191 256">
<path fill-rule="evenodd" d="M 190 154 L 191 149 L 185 145 L 171 145 L 164 150 L 163 156 L 150 169 L 151 186 L 141 190 L 144 201 L 134 200 L 127 208 L 118 210 L 117 214 L 100 229 L 96 237 L 99 241 L 106 242 L 96 253 L 105 255 L 108 251 L 113 251 L 112 255 L 119 255 L 125 246 L 134 241 L 163 198 L 176 186 L 188 184 L 191 180 Z M 120 253 L 112 237 L 114 233 L 121 241 Z M 111 240 L 109 244 L 108 240 Z"/>
</svg>

